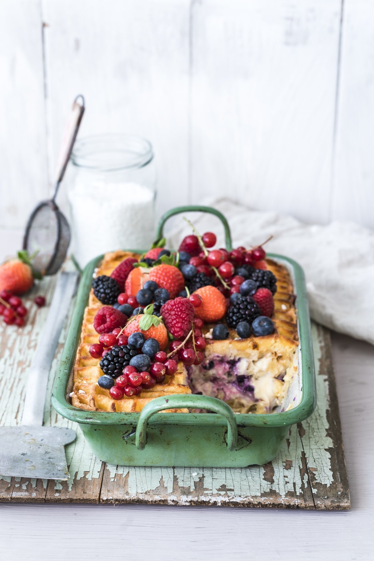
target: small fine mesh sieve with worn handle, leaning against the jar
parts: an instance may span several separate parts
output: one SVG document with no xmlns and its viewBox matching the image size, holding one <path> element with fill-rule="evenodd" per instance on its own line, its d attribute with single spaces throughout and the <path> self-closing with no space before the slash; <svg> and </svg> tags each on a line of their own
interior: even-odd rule
<svg viewBox="0 0 374 561">
<path fill-rule="evenodd" d="M 80 103 L 78 102 L 79 99 Z M 33 210 L 26 224 L 23 249 L 27 250 L 30 255 L 36 252 L 33 269 L 42 275 L 52 275 L 58 271 L 66 257 L 70 243 L 70 227 L 56 204 L 56 196 L 66 171 L 84 111 L 84 98 L 82 95 L 78 95 L 74 100 L 62 140 L 53 198 L 41 201 Z"/>
</svg>

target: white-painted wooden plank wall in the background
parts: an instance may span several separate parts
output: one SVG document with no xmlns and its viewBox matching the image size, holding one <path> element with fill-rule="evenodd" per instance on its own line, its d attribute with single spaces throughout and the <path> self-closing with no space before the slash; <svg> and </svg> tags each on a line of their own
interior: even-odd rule
<svg viewBox="0 0 374 561">
<path fill-rule="evenodd" d="M 50 190 L 80 92 L 81 134 L 153 142 L 159 210 L 230 194 L 373 227 L 373 23 L 370 0 L 3 0 L 0 227 Z"/>
</svg>

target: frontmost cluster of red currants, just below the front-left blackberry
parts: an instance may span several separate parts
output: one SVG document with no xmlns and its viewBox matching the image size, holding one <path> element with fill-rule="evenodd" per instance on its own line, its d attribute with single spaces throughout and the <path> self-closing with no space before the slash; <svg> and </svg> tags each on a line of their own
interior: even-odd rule
<svg viewBox="0 0 374 561">
<path fill-rule="evenodd" d="M 143 389 L 151 389 L 155 384 L 162 384 L 165 376 L 171 376 L 178 370 L 178 364 L 172 358 L 168 358 L 165 351 L 158 351 L 155 360 L 151 363 L 149 372 L 139 372 L 135 366 L 125 366 L 123 374 L 115 380 L 115 385 L 109 389 L 110 397 L 122 399 L 134 397 L 141 394 Z"/>
</svg>

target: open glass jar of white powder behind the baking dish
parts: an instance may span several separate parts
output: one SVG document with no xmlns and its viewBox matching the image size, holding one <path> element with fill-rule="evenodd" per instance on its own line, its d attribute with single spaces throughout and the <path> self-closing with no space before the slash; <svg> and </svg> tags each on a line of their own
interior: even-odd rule
<svg viewBox="0 0 374 561">
<path fill-rule="evenodd" d="M 147 249 L 155 233 L 155 167 L 148 140 L 92 135 L 77 140 L 68 188 L 73 255 L 83 268 L 96 255 Z"/>
</svg>

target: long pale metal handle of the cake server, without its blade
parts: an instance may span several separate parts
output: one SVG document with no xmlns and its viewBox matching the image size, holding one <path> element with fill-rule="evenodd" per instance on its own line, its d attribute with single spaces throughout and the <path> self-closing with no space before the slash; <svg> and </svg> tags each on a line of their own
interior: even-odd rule
<svg viewBox="0 0 374 561">
<path fill-rule="evenodd" d="M 43 425 L 45 396 L 50 366 L 56 352 L 58 338 L 71 305 L 77 285 L 77 273 L 61 273 L 49 308 L 47 321 L 39 336 L 33 363 L 29 370 L 26 385 L 22 425 Z"/>
</svg>

